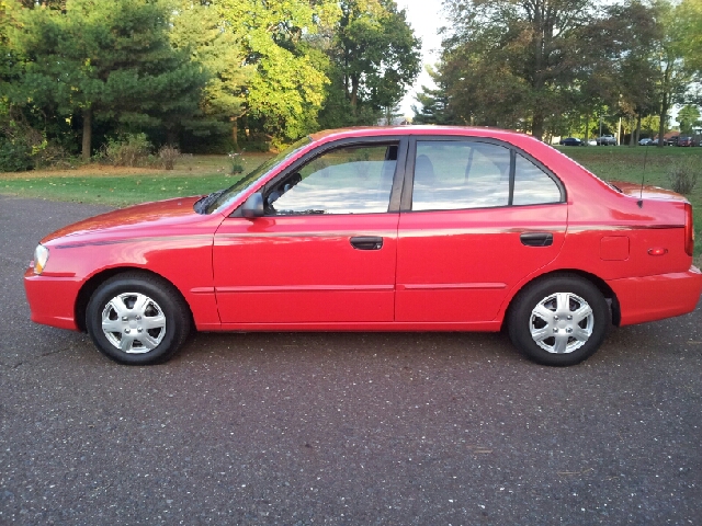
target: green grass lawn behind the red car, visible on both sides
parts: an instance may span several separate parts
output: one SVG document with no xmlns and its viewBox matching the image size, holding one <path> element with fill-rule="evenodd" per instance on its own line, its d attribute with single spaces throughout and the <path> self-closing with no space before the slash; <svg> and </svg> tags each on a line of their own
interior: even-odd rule
<svg viewBox="0 0 702 526">
<path fill-rule="evenodd" d="M 691 160 L 702 172 L 702 148 L 653 147 L 558 147 L 605 181 L 630 181 L 670 187 L 669 167 Z M 268 153 L 242 156 L 245 172 L 262 163 Z M 199 195 L 231 185 L 241 174 L 231 175 L 226 156 L 196 156 L 182 159 L 176 170 L 112 168 L 89 164 L 79 170 L 0 173 L 0 194 L 53 201 L 125 206 L 147 201 Z M 687 196 L 694 208 L 697 262 L 702 263 L 702 173 Z"/>
</svg>

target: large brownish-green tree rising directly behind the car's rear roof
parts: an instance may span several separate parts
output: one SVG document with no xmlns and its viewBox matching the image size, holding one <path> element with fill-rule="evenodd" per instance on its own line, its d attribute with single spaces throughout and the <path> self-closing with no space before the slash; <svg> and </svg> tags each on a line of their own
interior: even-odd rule
<svg viewBox="0 0 702 526">
<path fill-rule="evenodd" d="M 582 28 L 601 9 L 587 0 L 445 0 L 451 34 L 443 68 L 456 115 L 466 122 L 526 126 L 571 105 L 584 70 Z"/>
</svg>

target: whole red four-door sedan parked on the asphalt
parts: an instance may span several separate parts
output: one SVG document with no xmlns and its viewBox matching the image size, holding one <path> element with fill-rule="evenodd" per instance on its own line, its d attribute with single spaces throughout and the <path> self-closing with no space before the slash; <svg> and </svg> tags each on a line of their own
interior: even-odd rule
<svg viewBox="0 0 702 526">
<path fill-rule="evenodd" d="M 611 323 L 692 311 L 692 207 L 607 184 L 526 135 L 324 132 L 234 186 L 44 238 L 32 320 L 88 331 L 125 364 L 200 331 L 499 331 L 571 365 Z M 52 298 L 48 300 L 47 298 Z"/>
</svg>

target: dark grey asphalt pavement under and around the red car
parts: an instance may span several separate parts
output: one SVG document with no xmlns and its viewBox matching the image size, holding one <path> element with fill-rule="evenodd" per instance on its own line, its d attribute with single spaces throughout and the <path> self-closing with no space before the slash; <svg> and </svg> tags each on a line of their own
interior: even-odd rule
<svg viewBox="0 0 702 526">
<path fill-rule="evenodd" d="M 125 367 L 22 286 L 102 210 L 0 196 L 0 524 L 702 524 L 702 306 L 569 368 L 461 333 L 197 334 Z"/>
</svg>

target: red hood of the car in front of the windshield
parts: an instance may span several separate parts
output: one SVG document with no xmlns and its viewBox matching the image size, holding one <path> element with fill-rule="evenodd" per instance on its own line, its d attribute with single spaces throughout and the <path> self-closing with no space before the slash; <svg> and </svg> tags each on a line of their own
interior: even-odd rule
<svg viewBox="0 0 702 526">
<path fill-rule="evenodd" d="M 135 230 L 146 232 L 166 226 L 186 224 L 193 218 L 202 217 L 193 210 L 193 205 L 201 198 L 202 196 L 179 197 L 109 211 L 56 230 L 45 237 L 42 243 L 57 238 L 90 236 L 106 231 L 128 235 Z"/>
</svg>

